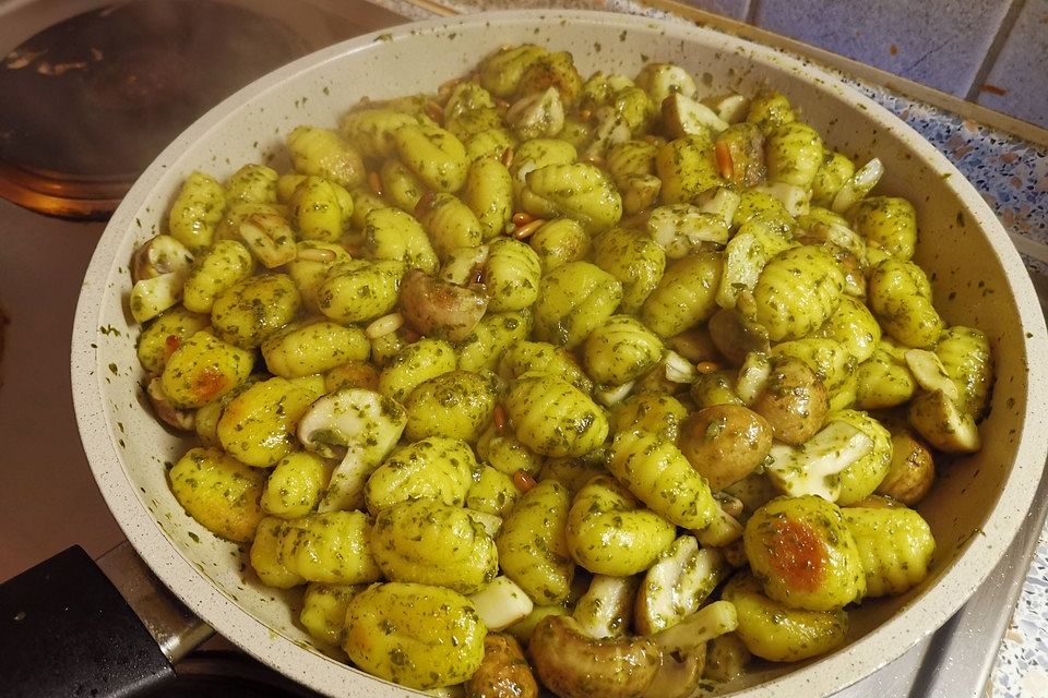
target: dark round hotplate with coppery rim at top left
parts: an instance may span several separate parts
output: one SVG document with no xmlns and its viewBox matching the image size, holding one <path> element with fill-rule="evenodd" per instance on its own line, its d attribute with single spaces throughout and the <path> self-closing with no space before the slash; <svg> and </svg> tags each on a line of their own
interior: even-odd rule
<svg viewBox="0 0 1048 698">
<path fill-rule="evenodd" d="M 317 46 L 217 1 L 151 0 L 66 19 L 0 59 L 0 196 L 107 218 L 187 125 Z"/>
</svg>

